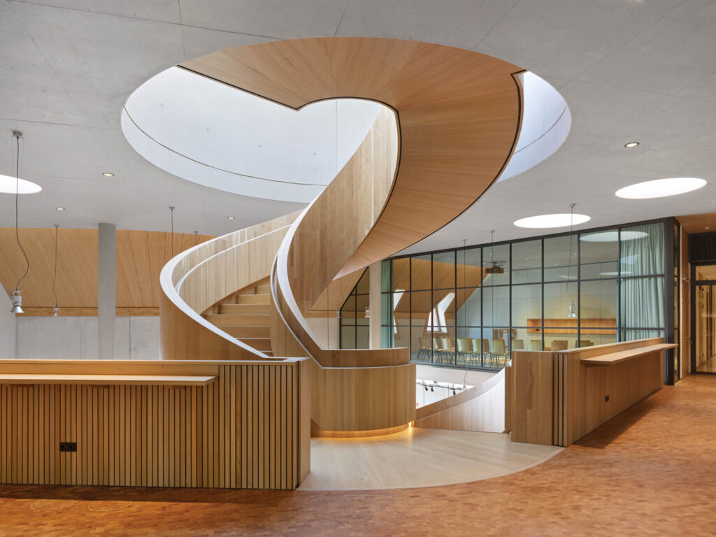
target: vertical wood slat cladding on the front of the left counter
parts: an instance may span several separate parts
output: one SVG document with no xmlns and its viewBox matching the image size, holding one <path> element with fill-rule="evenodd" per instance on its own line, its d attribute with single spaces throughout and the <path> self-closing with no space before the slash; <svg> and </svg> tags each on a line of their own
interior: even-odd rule
<svg viewBox="0 0 716 537">
<path fill-rule="evenodd" d="M 0 384 L 0 483 L 296 488 L 300 367 L 221 364 L 207 386 Z"/>
</svg>

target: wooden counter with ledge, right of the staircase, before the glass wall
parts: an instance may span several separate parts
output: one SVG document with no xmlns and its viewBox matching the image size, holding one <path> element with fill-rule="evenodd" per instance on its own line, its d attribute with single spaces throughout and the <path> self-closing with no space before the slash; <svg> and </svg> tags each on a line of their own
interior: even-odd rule
<svg viewBox="0 0 716 537">
<path fill-rule="evenodd" d="M 661 338 L 558 352 L 513 352 L 505 428 L 513 442 L 567 446 L 663 384 Z"/>
</svg>

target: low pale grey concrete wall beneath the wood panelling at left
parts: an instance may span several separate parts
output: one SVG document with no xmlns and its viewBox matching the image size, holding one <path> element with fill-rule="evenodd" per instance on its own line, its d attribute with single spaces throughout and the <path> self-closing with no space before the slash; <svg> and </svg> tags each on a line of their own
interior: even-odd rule
<svg viewBox="0 0 716 537">
<path fill-rule="evenodd" d="M 15 321 L 16 352 L 9 358 L 98 358 L 97 317 L 18 317 Z M 0 326 L 0 333 L 4 333 L 4 325 Z M 115 319 L 115 359 L 159 357 L 159 317 Z"/>
</svg>

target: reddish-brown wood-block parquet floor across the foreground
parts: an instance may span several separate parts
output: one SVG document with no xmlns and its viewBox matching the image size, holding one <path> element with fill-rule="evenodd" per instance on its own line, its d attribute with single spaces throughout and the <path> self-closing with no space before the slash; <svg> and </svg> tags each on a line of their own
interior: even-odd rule
<svg viewBox="0 0 716 537">
<path fill-rule="evenodd" d="M 714 536 L 715 431 L 716 378 L 692 375 L 501 478 L 295 492 L 4 486 L 0 536 Z"/>
</svg>

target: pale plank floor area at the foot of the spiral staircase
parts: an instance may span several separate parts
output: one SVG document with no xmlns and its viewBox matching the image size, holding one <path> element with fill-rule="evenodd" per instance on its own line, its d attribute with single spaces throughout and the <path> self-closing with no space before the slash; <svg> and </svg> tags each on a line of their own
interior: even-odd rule
<svg viewBox="0 0 716 537">
<path fill-rule="evenodd" d="M 561 450 L 498 432 L 410 428 L 373 438 L 314 438 L 299 490 L 453 485 L 524 470 Z"/>
</svg>

